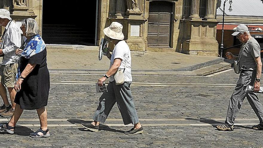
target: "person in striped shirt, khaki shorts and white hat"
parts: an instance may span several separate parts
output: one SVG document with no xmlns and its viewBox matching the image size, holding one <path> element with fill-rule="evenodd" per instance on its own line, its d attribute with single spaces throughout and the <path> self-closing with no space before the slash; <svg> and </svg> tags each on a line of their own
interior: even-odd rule
<svg viewBox="0 0 263 148">
<path fill-rule="evenodd" d="M 18 68 L 18 63 L 14 60 L 14 57 L 16 56 L 16 49 L 21 46 L 22 34 L 19 32 L 19 28 L 16 26 L 16 23 L 10 18 L 10 12 L 6 9 L 0 9 L 0 26 L 5 27 L 1 39 L 3 42 L 0 47 L 0 55 L 4 55 L 0 67 L 0 95 L 4 101 L 4 105 L 0 108 L 0 114 L 2 117 L 12 117 L 16 106 L 14 103 L 16 96 L 14 83 Z M 7 99 L 5 86 L 8 89 L 12 106 Z"/>
</svg>

